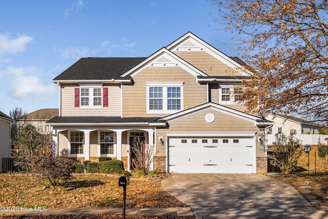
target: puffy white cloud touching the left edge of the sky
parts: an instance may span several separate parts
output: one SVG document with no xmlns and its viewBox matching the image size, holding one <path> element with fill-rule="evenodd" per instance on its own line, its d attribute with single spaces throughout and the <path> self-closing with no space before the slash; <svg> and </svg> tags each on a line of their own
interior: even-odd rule
<svg viewBox="0 0 328 219">
<path fill-rule="evenodd" d="M 17 38 L 11 38 L 9 34 L 0 34 L 0 55 L 23 52 L 25 51 L 26 45 L 32 41 L 33 38 L 26 35 L 19 35 Z"/>
</svg>

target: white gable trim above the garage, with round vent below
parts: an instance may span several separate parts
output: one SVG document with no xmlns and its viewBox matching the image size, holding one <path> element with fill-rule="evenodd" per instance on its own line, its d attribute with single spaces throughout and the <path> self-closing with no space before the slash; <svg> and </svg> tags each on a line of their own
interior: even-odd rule
<svg viewBox="0 0 328 219">
<path fill-rule="evenodd" d="M 175 121 L 175 120 L 178 120 L 180 118 L 183 118 L 185 116 L 189 116 L 189 115 L 192 115 L 192 114 L 204 111 L 204 110 L 208 110 L 208 109 L 216 110 L 218 112 L 226 113 L 228 115 L 235 116 L 235 117 L 240 118 L 242 120 L 252 122 L 252 123 L 254 123 L 254 126 L 256 126 L 258 124 L 256 120 L 261 119 L 257 116 L 253 116 L 253 115 L 250 115 L 250 114 L 247 114 L 247 113 L 244 113 L 244 112 L 240 112 L 238 110 L 234 110 L 234 109 L 231 109 L 231 108 L 228 108 L 228 107 L 224 107 L 224 106 L 221 106 L 221 105 L 218 105 L 218 104 L 207 103 L 207 104 L 203 104 L 203 105 L 200 105 L 200 106 L 188 109 L 188 110 L 184 110 L 184 111 L 181 111 L 181 112 L 178 112 L 178 113 L 175 113 L 175 114 L 160 118 L 160 120 L 167 120 L 167 122 L 171 122 L 171 121 Z"/>
</svg>

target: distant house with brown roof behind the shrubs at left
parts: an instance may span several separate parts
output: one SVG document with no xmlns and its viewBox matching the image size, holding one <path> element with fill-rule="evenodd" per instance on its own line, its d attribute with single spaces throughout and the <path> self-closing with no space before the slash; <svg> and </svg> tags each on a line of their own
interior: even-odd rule
<svg viewBox="0 0 328 219">
<path fill-rule="evenodd" d="M 46 122 L 58 115 L 58 109 L 39 109 L 26 114 L 24 118 L 26 122 L 33 125 L 39 133 L 45 134 L 49 132 L 49 125 L 47 125 Z"/>
</svg>

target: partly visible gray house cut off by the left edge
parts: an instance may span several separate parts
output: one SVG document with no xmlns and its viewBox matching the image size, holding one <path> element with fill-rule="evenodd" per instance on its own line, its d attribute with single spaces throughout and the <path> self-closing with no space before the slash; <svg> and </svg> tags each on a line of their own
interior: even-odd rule
<svg viewBox="0 0 328 219">
<path fill-rule="evenodd" d="M 0 111 L 0 172 L 3 158 L 10 157 L 10 122 L 12 119 Z"/>
</svg>

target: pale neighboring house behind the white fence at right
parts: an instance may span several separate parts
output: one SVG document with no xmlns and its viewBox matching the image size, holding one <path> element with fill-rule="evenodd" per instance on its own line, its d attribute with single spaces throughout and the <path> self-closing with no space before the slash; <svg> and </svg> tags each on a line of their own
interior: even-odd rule
<svg viewBox="0 0 328 219">
<path fill-rule="evenodd" d="M 323 128 L 318 124 L 289 115 L 269 113 L 265 118 L 274 122 L 269 128 L 272 134 L 319 134 L 319 130 Z"/>
</svg>

